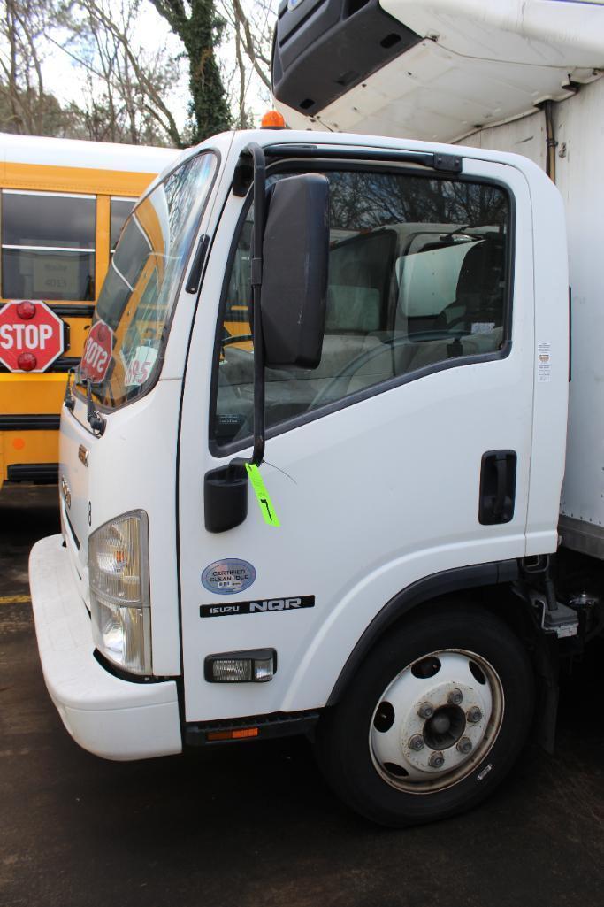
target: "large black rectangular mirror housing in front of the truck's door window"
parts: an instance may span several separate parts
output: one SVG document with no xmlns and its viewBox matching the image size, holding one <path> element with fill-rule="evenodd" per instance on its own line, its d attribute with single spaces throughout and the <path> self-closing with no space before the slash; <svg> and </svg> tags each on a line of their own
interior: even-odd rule
<svg viewBox="0 0 604 907">
<path fill-rule="evenodd" d="M 262 248 L 262 333 L 268 368 L 317 368 L 325 332 L 329 183 L 319 173 L 278 180 Z"/>
</svg>

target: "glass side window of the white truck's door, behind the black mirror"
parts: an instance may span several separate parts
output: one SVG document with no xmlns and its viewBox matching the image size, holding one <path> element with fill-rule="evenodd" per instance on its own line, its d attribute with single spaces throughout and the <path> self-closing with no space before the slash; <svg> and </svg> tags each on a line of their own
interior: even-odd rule
<svg viewBox="0 0 604 907">
<path fill-rule="evenodd" d="M 397 377 L 502 350 L 510 203 L 491 184 L 326 171 L 326 331 L 313 371 L 267 371 L 267 425 Z M 213 440 L 248 438 L 253 410 L 251 215 L 239 235 L 220 328 Z"/>
</svg>

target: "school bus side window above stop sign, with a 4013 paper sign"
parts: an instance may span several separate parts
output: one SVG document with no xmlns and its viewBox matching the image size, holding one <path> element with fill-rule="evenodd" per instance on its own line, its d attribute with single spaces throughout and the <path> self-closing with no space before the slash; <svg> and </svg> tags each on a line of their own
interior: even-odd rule
<svg viewBox="0 0 604 907">
<path fill-rule="evenodd" d="M 2 296 L 94 298 L 92 195 L 2 191 Z"/>
</svg>

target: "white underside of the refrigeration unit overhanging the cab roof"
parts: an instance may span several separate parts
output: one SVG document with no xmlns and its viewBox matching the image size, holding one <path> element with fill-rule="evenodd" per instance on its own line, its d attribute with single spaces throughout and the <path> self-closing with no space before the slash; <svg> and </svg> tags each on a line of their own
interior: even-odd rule
<svg viewBox="0 0 604 907">
<path fill-rule="evenodd" d="M 380 0 L 424 40 L 293 128 L 458 141 L 572 93 L 604 67 L 604 8 L 558 0 Z"/>
</svg>

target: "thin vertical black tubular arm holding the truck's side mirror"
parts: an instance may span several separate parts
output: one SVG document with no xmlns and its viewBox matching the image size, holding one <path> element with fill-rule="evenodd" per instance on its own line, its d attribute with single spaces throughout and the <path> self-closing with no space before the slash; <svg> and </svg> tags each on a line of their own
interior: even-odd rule
<svg viewBox="0 0 604 907">
<path fill-rule="evenodd" d="M 251 462 L 259 466 L 264 459 L 265 444 L 264 338 L 260 296 L 262 293 L 262 242 L 266 220 L 267 175 L 264 151 L 257 142 L 250 142 L 247 151 L 254 160 L 254 243 L 251 260 L 254 317 L 254 452 Z"/>
</svg>

